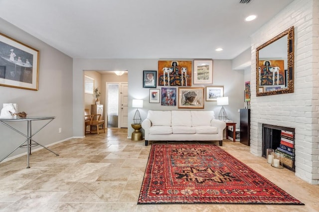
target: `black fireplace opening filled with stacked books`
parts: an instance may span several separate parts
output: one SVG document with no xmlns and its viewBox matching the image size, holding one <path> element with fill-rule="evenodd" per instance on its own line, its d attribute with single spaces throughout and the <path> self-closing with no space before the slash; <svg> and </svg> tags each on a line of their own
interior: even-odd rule
<svg viewBox="0 0 319 212">
<path fill-rule="evenodd" d="M 262 156 L 267 157 L 267 148 L 283 156 L 285 168 L 295 171 L 295 128 L 262 125 Z"/>
</svg>

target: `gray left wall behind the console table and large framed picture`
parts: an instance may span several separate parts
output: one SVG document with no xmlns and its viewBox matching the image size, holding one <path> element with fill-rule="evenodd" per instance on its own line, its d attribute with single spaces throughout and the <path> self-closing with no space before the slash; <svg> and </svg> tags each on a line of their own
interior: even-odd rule
<svg viewBox="0 0 319 212">
<path fill-rule="evenodd" d="M 73 136 L 72 129 L 72 58 L 48 46 L 33 36 L 0 19 L 0 32 L 23 44 L 39 50 L 38 91 L 0 86 L 0 109 L 3 103 L 17 103 L 18 111 L 28 116 L 56 116 L 49 125 L 34 136 L 35 141 L 50 144 Z M 35 130 L 40 121 L 32 122 Z M 26 123 L 11 123 L 26 134 Z M 58 129 L 62 128 L 62 133 Z M 0 158 L 24 140 L 14 131 L 0 124 Z M 25 153 L 19 148 L 9 157 Z"/>
</svg>

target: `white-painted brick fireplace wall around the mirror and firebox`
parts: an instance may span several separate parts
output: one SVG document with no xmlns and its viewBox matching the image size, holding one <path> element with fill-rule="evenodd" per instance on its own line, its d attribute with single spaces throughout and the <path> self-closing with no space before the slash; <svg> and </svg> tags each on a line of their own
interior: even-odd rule
<svg viewBox="0 0 319 212">
<path fill-rule="evenodd" d="M 256 48 L 295 27 L 295 92 L 256 97 Z M 319 184 L 319 1 L 295 0 L 252 35 L 251 152 L 262 153 L 262 124 L 296 130 L 296 176 Z"/>
</svg>

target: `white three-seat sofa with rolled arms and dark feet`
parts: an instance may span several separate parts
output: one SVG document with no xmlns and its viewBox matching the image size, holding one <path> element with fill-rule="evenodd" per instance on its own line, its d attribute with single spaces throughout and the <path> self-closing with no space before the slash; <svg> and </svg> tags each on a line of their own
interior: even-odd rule
<svg viewBox="0 0 319 212">
<path fill-rule="evenodd" d="M 145 145 L 149 141 L 219 141 L 223 145 L 226 123 L 214 111 L 153 111 L 142 122 Z"/>
</svg>

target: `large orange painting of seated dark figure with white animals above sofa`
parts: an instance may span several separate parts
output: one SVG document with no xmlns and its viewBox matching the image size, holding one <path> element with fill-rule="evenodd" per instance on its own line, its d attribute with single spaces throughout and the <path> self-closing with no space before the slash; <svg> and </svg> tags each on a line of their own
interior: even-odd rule
<svg viewBox="0 0 319 212">
<path fill-rule="evenodd" d="M 159 61 L 159 86 L 191 86 L 191 61 Z"/>
</svg>

